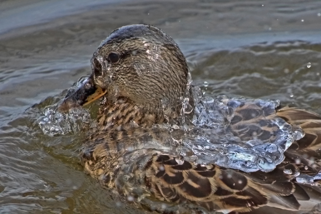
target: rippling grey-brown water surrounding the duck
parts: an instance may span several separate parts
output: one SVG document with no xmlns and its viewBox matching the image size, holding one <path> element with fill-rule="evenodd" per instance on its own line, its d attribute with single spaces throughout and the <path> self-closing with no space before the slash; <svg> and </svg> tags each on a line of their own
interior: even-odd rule
<svg viewBox="0 0 321 214">
<path fill-rule="evenodd" d="M 100 42 L 135 23 L 173 37 L 205 95 L 321 113 L 319 0 L 2 0 L 0 213 L 141 213 L 83 173 L 81 136 L 49 137 L 35 123 L 91 72 Z"/>
</svg>

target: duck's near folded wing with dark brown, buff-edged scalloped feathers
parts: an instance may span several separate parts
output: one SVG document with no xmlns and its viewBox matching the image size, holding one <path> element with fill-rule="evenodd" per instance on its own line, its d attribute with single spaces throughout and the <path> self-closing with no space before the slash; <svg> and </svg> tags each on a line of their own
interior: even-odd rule
<svg viewBox="0 0 321 214">
<path fill-rule="evenodd" d="M 229 214 L 296 214 L 301 213 L 299 210 L 311 210 L 321 203 L 321 189 L 318 186 L 263 180 L 256 178 L 255 173 L 245 174 L 188 161 L 178 163 L 176 158 L 155 154 L 147 164 L 145 182 L 160 201 L 193 203 L 207 210 Z"/>
</svg>

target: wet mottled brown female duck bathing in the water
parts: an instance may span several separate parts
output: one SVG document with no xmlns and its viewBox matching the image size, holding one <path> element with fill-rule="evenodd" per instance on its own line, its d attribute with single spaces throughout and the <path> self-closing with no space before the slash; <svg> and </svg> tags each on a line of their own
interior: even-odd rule
<svg viewBox="0 0 321 214">
<path fill-rule="evenodd" d="M 291 107 L 271 113 L 305 132 L 271 172 L 245 173 L 198 164 L 172 152 L 173 138 L 166 129 L 166 124 L 180 123 L 182 97 L 191 107 L 185 123 L 190 123 L 188 115 L 195 108 L 186 59 L 168 35 L 143 24 L 114 30 L 94 53 L 91 68 L 88 80 L 67 94 L 59 109 L 66 111 L 104 97 L 83 143 L 82 165 L 132 206 L 170 213 L 296 214 L 321 203 L 318 185 L 298 183 L 294 175 L 283 172 L 312 176 L 321 170 L 319 115 Z M 247 121 L 262 133 L 272 133 L 271 124 L 260 123 L 266 119 L 261 108 L 246 103 L 237 107 L 237 120 L 230 128 L 240 134 L 238 127 Z M 249 116 L 253 109 L 259 114 Z M 268 136 L 273 137 L 270 132 Z"/>
</svg>

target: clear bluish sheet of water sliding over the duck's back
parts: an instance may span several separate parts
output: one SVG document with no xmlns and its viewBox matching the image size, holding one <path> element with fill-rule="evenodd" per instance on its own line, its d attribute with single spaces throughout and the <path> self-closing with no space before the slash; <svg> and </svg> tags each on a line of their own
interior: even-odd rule
<svg viewBox="0 0 321 214">
<path fill-rule="evenodd" d="M 205 97 L 196 107 L 195 127 L 178 150 L 201 164 L 272 171 L 292 142 L 304 136 L 275 115 L 278 106 L 278 100 Z"/>
</svg>

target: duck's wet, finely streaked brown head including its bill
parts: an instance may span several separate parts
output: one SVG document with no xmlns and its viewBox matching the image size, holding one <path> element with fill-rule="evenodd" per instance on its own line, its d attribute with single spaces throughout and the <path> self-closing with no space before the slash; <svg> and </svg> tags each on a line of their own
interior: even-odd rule
<svg viewBox="0 0 321 214">
<path fill-rule="evenodd" d="M 164 111 L 171 118 L 180 114 L 189 69 L 178 45 L 162 30 L 137 24 L 112 31 L 93 54 L 91 69 L 88 80 L 67 94 L 60 111 L 106 96 L 108 105 L 126 98 L 157 118 Z M 194 108 L 192 97 L 190 104 Z"/>
</svg>

